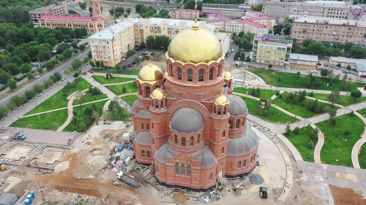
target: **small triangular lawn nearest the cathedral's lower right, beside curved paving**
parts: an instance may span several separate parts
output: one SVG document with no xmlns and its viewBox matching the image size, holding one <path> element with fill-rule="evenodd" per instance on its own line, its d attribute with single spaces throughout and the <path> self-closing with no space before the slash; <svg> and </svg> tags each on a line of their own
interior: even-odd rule
<svg viewBox="0 0 366 205">
<path fill-rule="evenodd" d="M 298 134 L 295 134 L 294 131 L 291 131 L 289 135 L 286 133 L 283 134 L 296 147 L 300 152 L 302 159 L 306 162 L 314 162 L 314 149 L 315 145 L 318 143 L 318 139 L 310 138 L 310 133 L 313 130 L 314 129 L 311 126 L 306 126 L 300 128 Z M 307 144 L 309 144 L 311 140 L 313 141 L 313 148 L 308 148 Z M 307 158 L 308 156 L 310 156 L 310 159 Z"/>
</svg>

